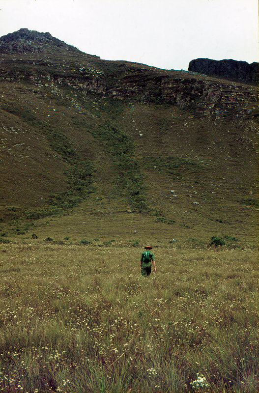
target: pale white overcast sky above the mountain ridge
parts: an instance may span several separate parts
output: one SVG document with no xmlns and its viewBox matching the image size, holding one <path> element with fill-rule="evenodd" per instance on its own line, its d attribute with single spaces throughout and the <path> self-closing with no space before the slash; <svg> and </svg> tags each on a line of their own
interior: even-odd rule
<svg viewBox="0 0 259 393">
<path fill-rule="evenodd" d="M 259 61 L 258 0 L 0 0 L 0 36 L 20 28 L 165 69 L 198 57 Z"/>
</svg>

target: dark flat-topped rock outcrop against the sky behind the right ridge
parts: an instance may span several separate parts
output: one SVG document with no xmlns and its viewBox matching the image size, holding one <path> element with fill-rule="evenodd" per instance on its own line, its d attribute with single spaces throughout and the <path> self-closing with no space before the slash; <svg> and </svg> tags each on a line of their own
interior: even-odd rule
<svg viewBox="0 0 259 393">
<path fill-rule="evenodd" d="M 190 61 L 188 71 L 247 84 L 258 84 L 259 81 L 259 63 L 257 62 L 248 64 L 246 61 L 232 59 L 197 58 Z"/>
</svg>

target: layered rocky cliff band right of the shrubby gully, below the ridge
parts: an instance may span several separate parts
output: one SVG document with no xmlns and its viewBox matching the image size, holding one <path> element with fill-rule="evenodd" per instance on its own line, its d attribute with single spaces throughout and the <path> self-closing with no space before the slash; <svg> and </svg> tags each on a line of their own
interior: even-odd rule
<svg viewBox="0 0 259 393">
<path fill-rule="evenodd" d="M 142 102 L 160 101 L 177 105 L 212 120 L 225 118 L 227 112 L 233 120 L 247 118 L 252 114 L 250 104 L 256 103 L 256 92 L 252 86 L 198 79 L 188 72 L 175 76 L 150 74 L 143 78 L 143 75 L 142 69 L 128 72 L 107 93 L 120 99 L 137 96 Z"/>
</svg>

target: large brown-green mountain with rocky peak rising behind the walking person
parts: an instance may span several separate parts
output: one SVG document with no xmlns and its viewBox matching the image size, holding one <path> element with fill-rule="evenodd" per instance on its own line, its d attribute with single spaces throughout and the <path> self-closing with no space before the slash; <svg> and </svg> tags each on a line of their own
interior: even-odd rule
<svg viewBox="0 0 259 393">
<path fill-rule="evenodd" d="M 256 242 L 256 86 L 23 28 L 0 38 L 0 89 L 2 241 Z"/>
</svg>

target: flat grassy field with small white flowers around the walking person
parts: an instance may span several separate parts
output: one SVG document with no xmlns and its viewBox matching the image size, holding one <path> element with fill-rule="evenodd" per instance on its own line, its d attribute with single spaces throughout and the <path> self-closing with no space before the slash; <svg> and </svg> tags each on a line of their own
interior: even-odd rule
<svg viewBox="0 0 259 393">
<path fill-rule="evenodd" d="M 141 251 L 0 244 L 0 391 L 258 392 L 258 252 Z"/>
</svg>

